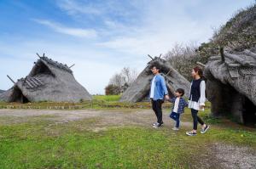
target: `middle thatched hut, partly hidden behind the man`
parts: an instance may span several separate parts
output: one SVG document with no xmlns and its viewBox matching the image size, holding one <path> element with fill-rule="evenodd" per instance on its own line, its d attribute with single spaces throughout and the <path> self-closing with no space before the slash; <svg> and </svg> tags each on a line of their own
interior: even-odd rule
<svg viewBox="0 0 256 169">
<path fill-rule="evenodd" d="M 160 57 L 155 57 L 148 62 L 146 68 L 141 72 L 135 82 L 131 84 L 122 94 L 121 102 L 139 102 L 149 96 L 150 83 L 154 75 L 150 70 L 150 66 L 154 64 L 160 65 L 161 74 L 166 78 L 166 86 L 171 96 L 175 90 L 179 87 L 185 90 L 185 94 L 189 94 L 189 82 L 182 75 L 180 75 L 177 70 L 174 70 L 172 66 L 165 60 L 160 59 Z"/>
</svg>

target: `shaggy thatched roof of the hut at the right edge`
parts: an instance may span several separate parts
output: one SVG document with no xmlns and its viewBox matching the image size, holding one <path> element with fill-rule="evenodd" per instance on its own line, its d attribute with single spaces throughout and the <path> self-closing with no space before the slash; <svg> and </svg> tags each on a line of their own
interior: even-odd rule
<svg viewBox="0 0 256 169">
<path fill-rule="evenodd" d="M 208 60 L 205 74 L 218 81 L 229 84 L 256 105 L 256 48 L 241 52 L 226 51 L 221 56 Z"/>
</svg>

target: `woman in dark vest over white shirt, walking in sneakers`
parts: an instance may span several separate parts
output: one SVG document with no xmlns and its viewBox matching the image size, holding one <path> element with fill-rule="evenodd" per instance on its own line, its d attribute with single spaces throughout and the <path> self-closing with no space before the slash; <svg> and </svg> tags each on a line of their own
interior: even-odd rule
<svg viewBox="0 0 256 169">
<path fill-rule="evenodd" d="M 189 108 L 191 109 L 193 118 L 193 130 L 186 132 L 186 134 L 195 136 L 198 122 L 201 124 L 201 133 L 207 132 L 209 126 L 197 115 L 198 110 L 204 110 L 206 101 L 206 82 L 202 79 L 203 72 L 201 68 L 195 67 L 191 72 L 191 76 L 193 77 L 193 81 L 191 82 L 189 92 Z"/>
</svg>

